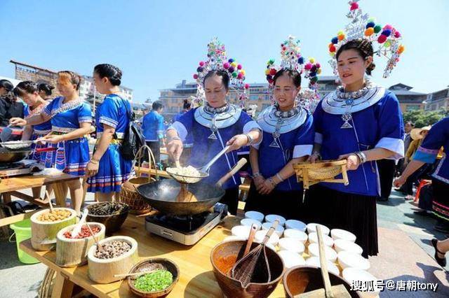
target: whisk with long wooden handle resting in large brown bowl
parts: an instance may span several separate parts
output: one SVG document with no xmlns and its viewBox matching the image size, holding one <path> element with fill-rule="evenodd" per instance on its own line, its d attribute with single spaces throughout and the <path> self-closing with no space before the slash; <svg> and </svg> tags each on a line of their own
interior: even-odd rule
<svg viewBox="0 0 449 298">
<path fill-rule="evenodd" d="M 255 266 L 257 261 L 259 260 L 260 253 L 263 253 L 262 257 L 264 257 L 264 270 L 267 272 L 258 272 L 260 276 L 267 277 L 267 281 L 260 281 L 261 283 L 268 283 L 271 280 L 271 273 L 269 271 L 269 263 L 267 260 L 267 253 L 265 252 L 265 245 L 269 240 L 269 237 L 272 236 L 274 230 L 279 225 L 279 220 L 274 220 L 272 227 L 269 228 L 267 234 L 264 237 L 262 243 L 253 248 L 247 255 L 243 256 L 239 261 L 237 261 L 231 269 L 231 277 L 235 278 L 237 281 L 240 281 L 243 288 L 246 288 L 253 278 Z M 262 270 L 262 269 L 260 269 Z M 258 281 L 259 282 L 259 281 Z"/>
</svg>

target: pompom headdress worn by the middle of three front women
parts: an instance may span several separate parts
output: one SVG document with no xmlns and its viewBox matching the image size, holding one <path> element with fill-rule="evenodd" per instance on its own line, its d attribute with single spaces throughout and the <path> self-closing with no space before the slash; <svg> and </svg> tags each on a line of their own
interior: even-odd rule
<svg viewBox="0 0 449 298">
<path fill-rule="evenodd" d="M 316 82 L 321 73 L 321 65 L 314 58 L 304 59 L 301 54 L 300 41 L 294 36 L 288 36 L 288 39 L 281 43 L 281 64 L 274 64 L 274 59 L 269 59 L 265 75 L 269 83 L 270 99 L 273 99 L 274 76 L 281 69 L 297 71 L 304 78 L 309 79 L 309 89 L 303 88 L 297 95 L 298 103 L 313 111 L 314 103 L 318 102 L 318 93 L 316 92 Z"/>
</svg>

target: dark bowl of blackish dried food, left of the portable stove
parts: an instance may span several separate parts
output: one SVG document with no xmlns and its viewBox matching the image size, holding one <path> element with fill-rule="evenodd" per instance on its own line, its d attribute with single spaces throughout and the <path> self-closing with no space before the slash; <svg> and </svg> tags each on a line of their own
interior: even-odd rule
<svg viewBox="0 0 449 298">
<path fill-rule="evenodd" d="M 88 222 L 100 222 L 106 227 L 106 234 L 117 232 L 128 217 L 129 206 L 123 203 L 103 201 L 88 206 Z"/>
</svg>

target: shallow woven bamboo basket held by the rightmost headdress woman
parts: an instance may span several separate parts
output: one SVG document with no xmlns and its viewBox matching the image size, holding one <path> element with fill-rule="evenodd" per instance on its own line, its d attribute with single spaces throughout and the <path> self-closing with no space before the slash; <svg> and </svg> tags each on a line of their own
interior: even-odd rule
<svg viewBox="0 0 449 298">
<path fill-rule="evenodd" d="M 308 190 L 311 185 L 320 182 L 349 184 L 346 159 L 323 160 L 314 164 L 310 162 L 299 162 L 293 164 L 293 169 L 295 169 L 297 181 L 303 183 L 305 190 Z M 342 174 L 342 178 L 335 178 L 340 173 Z"/>
</svg>

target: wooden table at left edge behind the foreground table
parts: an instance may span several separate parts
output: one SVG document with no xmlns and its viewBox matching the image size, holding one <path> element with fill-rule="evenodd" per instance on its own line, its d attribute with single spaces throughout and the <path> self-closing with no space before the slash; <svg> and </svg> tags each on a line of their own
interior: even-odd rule
<svg viewBox="0 0 449 298">
<path fill-rule="evenodd" d="M 17 176 L 12 178 L 2 178 L 0 180 L 0 194 L 3 197 L 4 203 L 11 201 L 11 196 L 18 197 L 29 201 L 32 204 L 39 206 L 46 206 L 48 203 L 42 199 L 34 199 L 33 197 L 19 192 L 19 190 L 26 190 L 32 187 L 41 187 L 44 185 L 51 185 L 55 192 L 56 206 L 65 206 L 66 193 L 64 191 L 63 183 L 79 179 L 77 176 L 69 175 L 67 173 L 59 173 L 52 176 Z M 10 225 L 14 222 L 29 218 L 32 213 L 25 213 L 20 215 L 10 216 L 8 218 L 0 219 L 0 227 Z"/>
</svg>

